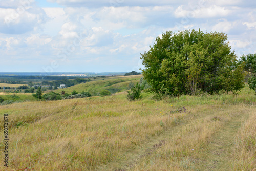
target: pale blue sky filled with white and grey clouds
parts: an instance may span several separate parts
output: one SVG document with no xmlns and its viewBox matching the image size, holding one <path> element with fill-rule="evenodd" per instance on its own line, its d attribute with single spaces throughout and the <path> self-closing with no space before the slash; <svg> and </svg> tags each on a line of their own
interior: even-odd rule
<svg viewBox="0 0 256 171">
<path fill-rule="evenodd" d="M 256 53 L 255 0 L 0 0 L 0 72 L 130 72 L 163 32 L 227 34 Z"/>
</svg>

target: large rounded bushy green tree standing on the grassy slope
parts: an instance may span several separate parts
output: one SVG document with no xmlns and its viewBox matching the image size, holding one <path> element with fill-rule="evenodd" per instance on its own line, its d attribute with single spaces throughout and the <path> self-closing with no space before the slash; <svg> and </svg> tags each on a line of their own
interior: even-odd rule
<svg viewBox="0 0 256 171">
<path fill-rule="evenodd" d="M 224 33 L 166 31 L 141 54 L 144 79 L 153 92 L 173 95 L 240 91 L 244 87 L 243 65 L 226 40 Z"/>
</svg>

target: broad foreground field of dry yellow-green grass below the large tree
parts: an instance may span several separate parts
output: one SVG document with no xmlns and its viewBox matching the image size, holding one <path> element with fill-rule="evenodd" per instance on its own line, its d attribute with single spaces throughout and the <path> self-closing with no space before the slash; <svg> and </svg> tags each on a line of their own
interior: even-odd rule
<svg viewBox="0 0 256 171">
<path fill-rule="evenodd" d="M 110 86 L 129 81 L 138 79 Z M 108 87 L 89 83 L 78 86 Z M 160 101 L 151 93 L 133 102 L 126 95 L 0 106 L 1 117 L 8 114 L 10 156 L 9 167 L 1 164 L 0 170 L 256 168 L 256 96 L 248 87 L 238 95 Z M 1 141 L 2 156 L 4 148 Z"/>
</svg>

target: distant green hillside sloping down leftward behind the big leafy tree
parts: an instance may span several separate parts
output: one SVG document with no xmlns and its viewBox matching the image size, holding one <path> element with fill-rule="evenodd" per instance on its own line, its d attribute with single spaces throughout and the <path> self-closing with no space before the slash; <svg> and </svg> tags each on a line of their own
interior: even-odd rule
<svg viewBox="0 0 256 171">
<path fill-rule="evenodd" d="M 101 80 L 90 81 L 87 83 L 81 83 L 64 89 L 54 90 L 54 92 L 60 93 L 63 90 L 66 93 L 70 94 L 73 90 L 76 90 L 78 93 L 86 91 L 95 96 L 99 95 L 98 93 L 101 90 L 109 90 L 111 93 L 122 92 L 127 90 L 127 87 L 130 82 L 133 82 L 135 84 L 139 82 L 141 77 L 141 75 L 133 75 L 109 77 L 104 80 L 101 78 Z"/>
</svg>

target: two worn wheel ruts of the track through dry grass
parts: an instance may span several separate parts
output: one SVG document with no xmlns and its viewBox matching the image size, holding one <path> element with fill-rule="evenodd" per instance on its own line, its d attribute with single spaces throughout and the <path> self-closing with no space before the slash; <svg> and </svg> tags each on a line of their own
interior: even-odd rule
<svg viewBox="0 0 256 171">
<path fill-rule="evenodd" d="M 200 155 L 201 157 L 204 156 L 202 163 L 195 163 L 197 170 L 231 170 L 234 137 L 239 131 L 241 121 L 247 116 L 246 112 L 236 112 L 236 110 L 238 109 L 233 109 L 228 112 L 230 118 L 226 121 L 223 127 L 213 135 L 212 141 L 203 152 L 204 154 L 202 154 L 202 156 Z M 205 115 L 201 117 L 205 118 L 207 116 L 215 116 L 215 114 L 205 113 Z M 188 123 L 181 123 L 171 130 L 166 130 L 161 135 L 144 143 L 141 147 L 137 147 L 134 150 L 123 154 L 125 159 L 113 161 L 112 163 L 99 168 L 99 170 L 132 170 L 143 157 L 150 156 L 156 149 L 164 146 L 166 140 L 175 136 L 186 124 Z"/>
</svg>

